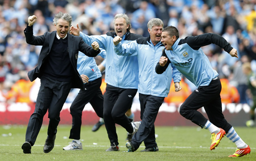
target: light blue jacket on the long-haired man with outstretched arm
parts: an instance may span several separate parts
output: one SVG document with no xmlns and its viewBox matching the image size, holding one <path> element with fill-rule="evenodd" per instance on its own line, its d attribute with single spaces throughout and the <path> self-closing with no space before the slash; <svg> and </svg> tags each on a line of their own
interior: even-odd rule
<svg viewBox="0 0 256 161">
<path fill-rule="evenodd" d="M 115 32 L 93 36 L 80 32 L 80 36 L 85 43 L 92 44 L 94 41 L 97 41 L 100 47 L 106 50 L 105 82 L 107 84 L 124 89 L 138 89 L 138 59 L 136 57 L 123 57 L 115 54 L 113 48 Z M 140 37 L 142 36 L 126 32 L 121 42 L 126 44 Z"/>
</svg>

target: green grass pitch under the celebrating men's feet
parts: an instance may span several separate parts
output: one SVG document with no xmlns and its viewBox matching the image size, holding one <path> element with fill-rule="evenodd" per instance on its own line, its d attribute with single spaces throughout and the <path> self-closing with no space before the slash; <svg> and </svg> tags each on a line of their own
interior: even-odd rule
<svg viewBox="0 0 256 161">
<path fill-rule="evenodd" d="M 125 147 L 126 131 L 116 126 L 119 152 L 106 152 L 110 147 L 107 131 L 102 126 L 92 132 L 92 126 L 81 127 L 83 150 L 65 151 L 62 148 L 71 142 L 68 139 L 71 125 L 59 125 L 54 149 L 45 154 L 43 145 L 47 137 L 47 126 L 42 126 L 32 154 L 23 154 L 21 145 L 25 142 L 27 126 L 0 126 L 0 161 L 256 161 L 256 129 L 234 127 L 238 135 L 251 148 L 251 154 L 240 158 L 228 158 L 236 150 L 236 145 L 224 137 L 215 150 L 210 150 L 210 133 L 197 126 L 155 127 L 158 152 L 141 152 L 141 147 L 132 153 Z"/>
</svg>

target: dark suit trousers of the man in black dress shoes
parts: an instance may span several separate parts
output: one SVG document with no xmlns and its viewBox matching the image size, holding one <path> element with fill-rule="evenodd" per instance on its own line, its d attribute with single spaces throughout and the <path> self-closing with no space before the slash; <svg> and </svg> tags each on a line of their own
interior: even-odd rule
<svg viewBox="0 0 256 161">
<path fill-rule="evenodd" d="M 57 126 L 61 121 L 60 112 L 71 89 L 70 82 L 62 82 L 49 77 L 41 77 L 41 85 L 36 99 L 34 113 L 30 116 L 26 142 L 33 146 L 41 129 L 43 117 L 48 110 L 47 135 L 53 137 L 57 133 Z"/>
</svg>

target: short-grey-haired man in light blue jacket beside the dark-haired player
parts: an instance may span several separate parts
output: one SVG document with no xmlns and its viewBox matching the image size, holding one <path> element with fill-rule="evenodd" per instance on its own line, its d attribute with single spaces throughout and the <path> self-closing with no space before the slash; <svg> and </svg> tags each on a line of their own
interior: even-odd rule
<svg viewBox="0 0 256 161">
<path fill-rule="evenodd" d="M 142 152 L 158 151 L 155 142 L 155 119 L 164 97 L 168 96 L 171 80 L 175 82 L 175 90 L 181 90 L 179 82 L 181 73 L 174 66 L 167 68 L 163 74 L 155 72 L 155 65 L 164 50 L 160 42 L 163 22 L 161 19 L 151 19 L 148 22 L 148 38 L 139 38 L 129 44 L 123 44 L 121 38 L 113 39 L 116 54 L 135 56 L 139 63 L 139 100 L 141 104 L 141 125 L 130 142 L 126 143 L 128 152 L 133 152 L 144 141 L 145 149 Z"/>
</svg>

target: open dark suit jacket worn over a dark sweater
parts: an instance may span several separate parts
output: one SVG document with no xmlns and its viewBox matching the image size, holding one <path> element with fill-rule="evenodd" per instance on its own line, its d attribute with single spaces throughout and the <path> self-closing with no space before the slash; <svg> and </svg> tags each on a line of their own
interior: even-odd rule
<svg viewBox="0 0 256 161">
<path fill-rule="evenodd" d="M 40 67 L 45 62 L 45 58 L 51 51 L 54 38 L 56 37 L 56 31 L 45 32 L 43 35 L 40 35 L 40 36 L 34 36 L 33 30 L 32 32 L 26 32 L 26 29 L 25 29 L 24 33 L 25 33 L 27 44 L 42 45 L 37 66 L 34 68 L 34 70 L 28 71 L 27 73 L 29 80 L 32 82 L 37 77 L 39 78 L 41 77 Z M 99 50 L 96 52 L 91 46 L 87 45 L 81 37 L 74 36 L 70 33 L 67 33 L 67 45 L 68 45 L 68 54 L 69 54 L 70 62 L 76 73 L 73 79 L 71 88 L 80 88 L 81 90 L 84 90 L 84 84 L 83 84 L 82 78 L 77 71 L 78 52 L 79 51 L 83 52 L 88 57 L 96 57 L 101 51 Z"/>
</svg>

